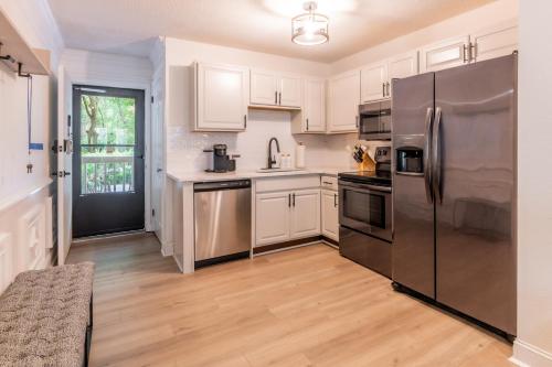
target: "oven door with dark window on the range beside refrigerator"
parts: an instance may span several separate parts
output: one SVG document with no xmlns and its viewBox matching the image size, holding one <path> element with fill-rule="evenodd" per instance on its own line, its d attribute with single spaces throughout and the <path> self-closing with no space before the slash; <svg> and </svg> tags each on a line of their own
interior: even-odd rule
<svg viewBox="0 0 552 367">
<path fill-rule="evenodd" d="M 391 187 L 339 180 L 339 224 L 392 241 Z"/>
</svg>

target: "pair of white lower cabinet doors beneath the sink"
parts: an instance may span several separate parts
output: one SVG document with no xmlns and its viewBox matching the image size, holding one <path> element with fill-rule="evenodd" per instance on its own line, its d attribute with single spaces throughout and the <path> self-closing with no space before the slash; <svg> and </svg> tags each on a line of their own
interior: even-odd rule
<svg viewBox="0 0 552 367">
<path fill-rule="evenodd" d="M 255 246 L 320 235 L 320 190 L 257 193 Z"/>
</svg>

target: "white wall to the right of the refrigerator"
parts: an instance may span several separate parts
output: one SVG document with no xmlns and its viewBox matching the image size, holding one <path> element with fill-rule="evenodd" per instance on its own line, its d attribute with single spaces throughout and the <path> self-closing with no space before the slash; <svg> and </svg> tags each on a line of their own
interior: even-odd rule
<svg viewBox="0 0 552 367">
<path fill-rule="evenodd" d="M 552 2 L 520 6 L 518 122 L 518 338 L 514 358 L 552 366 Z"/>
</svg>

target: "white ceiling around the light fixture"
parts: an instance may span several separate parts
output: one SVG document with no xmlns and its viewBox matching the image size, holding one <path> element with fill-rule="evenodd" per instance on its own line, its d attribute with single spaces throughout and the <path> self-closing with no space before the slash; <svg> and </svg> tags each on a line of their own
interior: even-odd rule
<svg viewBox="0 0 552 367">
<path fill-rule="evenodd" d="M 158 35 L 320 62 L 436 23 L 493 0 L 319 0 L 330 42 L 299 46 L 290 18 L 301 0 L 49 0 L 68 47 L 147 55 Z"/>
</svg>

